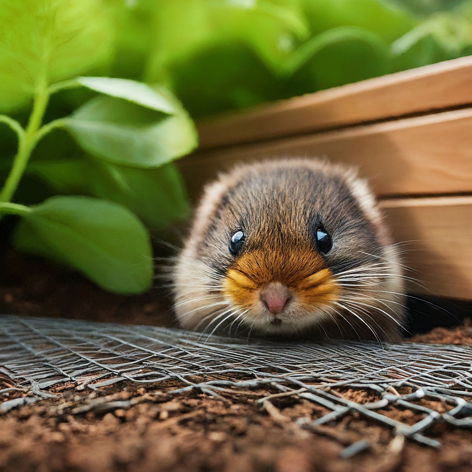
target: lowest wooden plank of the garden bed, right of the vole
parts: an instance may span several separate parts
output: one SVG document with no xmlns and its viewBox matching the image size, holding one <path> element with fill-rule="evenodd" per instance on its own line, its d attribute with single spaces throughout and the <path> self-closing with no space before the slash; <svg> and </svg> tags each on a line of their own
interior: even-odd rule
<svg viewBox="0 0 472 472">
<path fill-rule="evenodd" d="M 393 199 L 381 202 L 404 263 L 423 287 L 412 292 L 472 299 L 472 196 Z"/>
</svg>

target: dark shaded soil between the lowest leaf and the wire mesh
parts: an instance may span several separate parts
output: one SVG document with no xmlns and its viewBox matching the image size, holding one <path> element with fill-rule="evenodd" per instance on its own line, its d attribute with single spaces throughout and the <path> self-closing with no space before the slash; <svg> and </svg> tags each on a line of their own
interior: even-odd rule
<svg viewBox="0 0 472 472">
<path fill-rule="evenodd" d="M 80 274 L 8 253 L 0 274 L 0 313 L 173 327 L 163 290 L 140 296 L 104 292 Z"/>
</svg>

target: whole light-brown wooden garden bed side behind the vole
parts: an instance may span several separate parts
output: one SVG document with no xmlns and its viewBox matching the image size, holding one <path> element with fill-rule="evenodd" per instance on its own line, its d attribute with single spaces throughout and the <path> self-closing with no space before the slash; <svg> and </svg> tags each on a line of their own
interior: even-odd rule
<svg viewBox="0 0 472 472">
<path fill-rule="evenodd" d="M 412 292 L 472 299 L 472 56 L 202 123 L 180 161 L 190 195 L 235 162 L 325 157 L 379 196 Z"/>
</svg>

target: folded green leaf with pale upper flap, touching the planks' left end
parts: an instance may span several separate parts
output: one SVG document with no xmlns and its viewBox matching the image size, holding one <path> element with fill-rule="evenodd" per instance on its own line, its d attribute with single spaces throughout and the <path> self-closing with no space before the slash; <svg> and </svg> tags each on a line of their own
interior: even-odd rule
<svg viewBox="0 0 472 472">
<path fill-rule="evenodd" d="M 93 98 L 65 120 L 82 149 L 115 164 L 153 168 L 196 147 L 194 123 L 170 93 L 133 81 L 110 81 L 85 81 L 107 95 Z"/>
</svg>

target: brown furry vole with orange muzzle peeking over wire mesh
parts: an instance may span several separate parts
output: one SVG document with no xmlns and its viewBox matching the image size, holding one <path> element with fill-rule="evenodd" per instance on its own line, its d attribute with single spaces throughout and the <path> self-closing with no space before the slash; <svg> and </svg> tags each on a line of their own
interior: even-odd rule
<svg viewBox="0 0 472 472">
<path fill-rule="evenodd" d="M 404 276 L 367 183 L 322 160 L 240 165 L 206 186 L 173 271 L 185 329 L 396 341 Z"/>
</svg>

